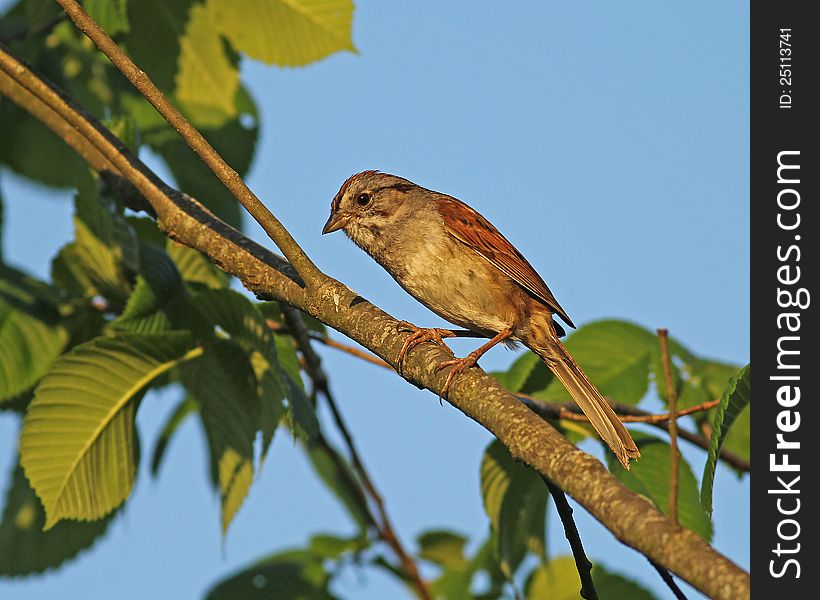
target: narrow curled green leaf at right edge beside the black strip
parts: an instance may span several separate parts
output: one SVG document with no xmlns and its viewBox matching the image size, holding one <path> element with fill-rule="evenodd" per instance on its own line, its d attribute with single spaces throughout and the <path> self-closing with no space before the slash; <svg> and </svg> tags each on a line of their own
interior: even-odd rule
<svg viewBox="0 0 820 600">
<path fill-rule="evenodd" d="M 715 482 L 717 459 L 726 436 L 743 409 L 751 402 L 751 365 L 746 365 L 729 380 L 712 421 L 712 435 L 709 439 L 709 456 L 703 469 L 701 483 L 701 505 L 707 514 L 712 514 L 712 486 Z"/>
</svg>

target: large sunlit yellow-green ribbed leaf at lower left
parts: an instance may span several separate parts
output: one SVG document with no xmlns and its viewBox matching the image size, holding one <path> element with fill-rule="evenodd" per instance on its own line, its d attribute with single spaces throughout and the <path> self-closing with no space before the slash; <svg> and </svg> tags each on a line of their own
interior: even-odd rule
<svg viewBox="0 0 820 600">
<path fill-rule="evenodd" d="M 120 335 L 77 346 L 55 363 L 29 406 L 20 462 L 46 512 L 94 520 L 119 506 L 136 472 L 135 398 L 197 353 L 185 333 Z"/>
</svg>

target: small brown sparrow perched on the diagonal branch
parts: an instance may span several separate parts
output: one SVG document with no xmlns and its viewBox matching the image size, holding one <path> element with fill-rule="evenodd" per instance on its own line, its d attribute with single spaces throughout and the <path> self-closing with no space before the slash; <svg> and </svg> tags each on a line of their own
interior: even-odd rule
<svg viewBox="0 0 820 600">
<path fill-rule="evenodd" d="M 424 306 L 489 338 L 468 356 L 438 365 L 451 367 L 442 396 L 490 348 L 520 342 L 563 384 L 626 469 L 640 457 L 626 427 L 559 339 L 564 331 L 555 317 L 574 323 L 523 254 L 476 210 L 403 177 L 368 170 L 350 176 L 333 197 L 322 234 L 338 230 Z M 406 321 L 400 326 L 410 336 L 399 353 L 399 372 L 416 345 L 443 344 L 454 335 Z"/>
</svg>

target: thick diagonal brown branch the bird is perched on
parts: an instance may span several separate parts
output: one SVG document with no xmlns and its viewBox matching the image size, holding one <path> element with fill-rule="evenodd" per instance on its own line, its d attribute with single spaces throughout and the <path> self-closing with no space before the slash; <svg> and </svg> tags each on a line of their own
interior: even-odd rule
<svg viewBox="0 0 820 600">
<path fill-rule="evenodd" d="M 329 277 L 306 294 L 299 277 L 280 257 L 225 225 L 189 196 L 165 185 L 108 130 L 3 48 L 0 70 L 59 114 L 139 190 L 167 235 L 204 253 L 249 290 L 318 318 L 395 368 L 407 335 L 397 331 L 399 321 Z M 29 110 L 25 102 L 22 106 Z M 59 135 L 56 128 L 52 130 Z M 66 143 L 76 146 L 71 140 Z M 452 357 L 451 352 L 433 344 L 419 346 L 405 362 L 405 379 L 439 394 L 446 372 L 437 370 L 436 365 Z M 448 401 L 493 433 L 514 458 L 572 496 L 623 543 L 710 597 L 736 600 L 749 596 L 748 573 L 696 534 L 673 528 L 647 499 L 626 488 L 599 461 L 569 443 L 481 369 L 461 374 L 451 386 Z"/>
</svg>

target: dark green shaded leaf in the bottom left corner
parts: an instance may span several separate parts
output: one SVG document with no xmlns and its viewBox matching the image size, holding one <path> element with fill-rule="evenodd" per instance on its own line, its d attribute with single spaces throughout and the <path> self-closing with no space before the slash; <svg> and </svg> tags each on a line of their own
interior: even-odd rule
<svg viewBox="0 0 820 600">
<path fill-rule="evenodd" d="M 43 531 L 46 516 L 23 469 L 16 466 L 0 522 L 0 575 L 31 575 L 57 567 L 92 546 L 113 515 L 92 523 L 63 521 Z"/>
</svg>

